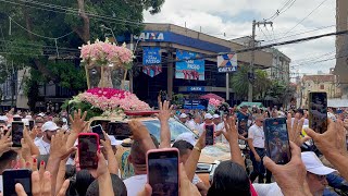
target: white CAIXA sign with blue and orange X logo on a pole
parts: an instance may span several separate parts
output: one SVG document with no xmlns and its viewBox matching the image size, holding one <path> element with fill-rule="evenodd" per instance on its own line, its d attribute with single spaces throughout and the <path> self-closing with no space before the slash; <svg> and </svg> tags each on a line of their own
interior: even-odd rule
<svg viewBox="0 0 348 196">
<path fill-rule="evenodd" d="M 227 53 L 217 56 L 217 70 L 219 72 L 235 72 L 237 71 L 237 54 Z"/>
</svg>

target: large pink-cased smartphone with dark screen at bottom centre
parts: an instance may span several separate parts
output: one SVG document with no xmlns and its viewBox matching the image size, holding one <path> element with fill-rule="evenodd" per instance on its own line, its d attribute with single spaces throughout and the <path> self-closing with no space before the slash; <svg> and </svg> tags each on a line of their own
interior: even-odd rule
<svg viewBox="0 0 348 196">
<path fill-rule="evenodd" d="M 152 195 L 178 196 L 178 150 L 176 148 L 154 149 L 147 152 L 148 183 Z"/>
</svg>

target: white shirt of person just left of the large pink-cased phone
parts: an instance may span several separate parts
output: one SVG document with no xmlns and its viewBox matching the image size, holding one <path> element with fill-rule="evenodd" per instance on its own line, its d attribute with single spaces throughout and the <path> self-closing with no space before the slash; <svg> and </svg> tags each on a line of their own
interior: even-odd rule
<svg viewBox="0 0 348 196">
<path fill-rule="evenodd" d="M 127 188 L 128 196 L 136 196 L 145 187 L 145 184 L 148 182 L 147 174 L 135 175 L 123 181 Z"/>
</svg>

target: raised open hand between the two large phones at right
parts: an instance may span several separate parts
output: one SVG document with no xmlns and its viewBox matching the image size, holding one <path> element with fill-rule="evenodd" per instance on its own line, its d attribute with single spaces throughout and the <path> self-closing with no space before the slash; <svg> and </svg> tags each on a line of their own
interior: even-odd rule
<svg viewBox="0 0 348 196">
<path fill-rule="evenodd" d="M 302 132 L 302 126 L 303 126 L 304 119 L 300 119 L 295 117 L 294 123 L 291 122 L 291 114 L 287 114 L 287 133 L 289 135 L 289 140 L 295 143 L 297 146 L 301 147 L 303 143 L 310 139 L 310 137 L 304 136 L 301 137 L 300 134 Z M 293 123 L 293 124 L 291 124 Z"/>
</svg>

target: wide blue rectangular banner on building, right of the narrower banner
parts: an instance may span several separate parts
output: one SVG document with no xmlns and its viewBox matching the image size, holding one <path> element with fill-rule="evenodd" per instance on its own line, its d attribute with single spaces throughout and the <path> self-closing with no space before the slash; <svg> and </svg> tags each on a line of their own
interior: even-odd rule
<svg viewBox="0 0 348 196">
<path fill-rule="evenodd" d="M 178 62 L 175 63 L 175 78 L 204 81 L 204 59 L 197 58 L 201 58 L 201 54 L 191 51 L 176 50 L 176 60 L 178 60 Z"/>
</svg>

